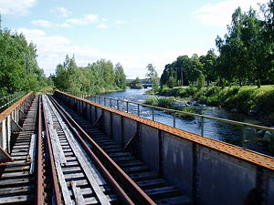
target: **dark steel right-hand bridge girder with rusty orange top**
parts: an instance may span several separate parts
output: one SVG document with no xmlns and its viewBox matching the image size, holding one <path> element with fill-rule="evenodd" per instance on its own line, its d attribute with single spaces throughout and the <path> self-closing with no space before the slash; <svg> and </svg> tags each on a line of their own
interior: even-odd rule
<svg viewBox="0 0 274 205">
<path fill-rule="evenodd" d="M 131 113 L 126 113 L 115 109 L 117 101 L 111 97 L 96 97 L 100 105 L 88 96 L 60 91 L 54 95 L 121 149 L 132 152 L 150 170 L 192 197 L 194 204 L 244 204 L 254 196 L 260 201 L 257 204 L 273 204 L 274 159 L 269 156 L 137 117 L 132 115 L 130 102 Z M 127 101 L 122 101 L 126 110 Z"/>
</svg>

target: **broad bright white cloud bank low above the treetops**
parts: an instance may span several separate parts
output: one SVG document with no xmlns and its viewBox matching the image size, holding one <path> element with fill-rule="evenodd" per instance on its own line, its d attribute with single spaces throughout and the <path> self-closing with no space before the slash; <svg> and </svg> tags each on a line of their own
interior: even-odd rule
<svg viewBox="0 0 274 205">
<path fill-rule="evenodd" d="M 177 50 L 166 51 L 164 53 L 142 53 L 139 55 L 106 53 L 90 46 L 79 46 L 64 36 L 47 36 L 46 32 L 39 29 L 19 28 L 17 32 L 22 32 L 26 40 L 37 45 L 37 61 L 39 67 L 43 68 L 46 75 L 55 73 L 55 68 L 62 63 L 68 54 L 76 57 L 78 66 L 86 67 L 101 58 L 110 59 L 114 64 L 120 62 L 125 74 L 129 78 L 144 77 L 145 67 L 153 63 L 159 75 L 162 74 L 166 64 L 173 62 L 177 56 L 197 53 L 205 54 L 207 50 Z"/>
</svg>

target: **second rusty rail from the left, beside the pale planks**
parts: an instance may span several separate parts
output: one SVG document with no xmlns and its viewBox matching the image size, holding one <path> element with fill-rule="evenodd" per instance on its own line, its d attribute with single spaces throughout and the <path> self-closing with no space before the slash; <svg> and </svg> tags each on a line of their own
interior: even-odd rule
<svg viewBox="0 0 274 205">
<path fill-rule="evenodd" d="M 59 190 L 59 185 L 58 185 L 58 176 L 57 176 L 57 172 L 56 172 L 56 166 L 54 163 L 54 157 L 53 157 L 53 150 L 52 150 L 52 145 L 51 145 L 51 141 L 50 141 L 50 137 L 49 137 L 49 130 L 47 128 L 47 121 L 46 121 L 46 114 L 44 111 L 44 106 L 43 103 L 41 105 L 41 107 L 43 108 L 43 121 L 45 124 L 45 129 L 46 129 L 46 138 L 47 138 L 47 151 L 48 151 L 48 155 L 49 155 L 49 161 L 50 161 L 50 169 L 51 169 L 51 174 L 52 174 L 52 179 L 53 179 L 53 190 L 54 190 L 54 195 L 55 195 L 55 204 L 57 205 L 61 205 L 62 204 L 62 197 L 60 194 L 60 190 Z"/>
</svg>

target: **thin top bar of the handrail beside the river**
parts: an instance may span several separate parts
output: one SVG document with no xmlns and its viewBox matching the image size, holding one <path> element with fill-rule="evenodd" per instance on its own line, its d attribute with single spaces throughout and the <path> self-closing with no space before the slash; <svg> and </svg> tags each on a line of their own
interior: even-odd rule
<svg viewBox="0 0 274 205">
<path fill-rule="evenodd" d="M 211 116 L 205 116 L 205 115 L 200 115 L 200 114 L 191 113 L 191 112 L 185 112 L 185 111 L 181 111 L 181 110 L 175 110 L 175 109 L 170 109 L 170 108 L 161 108 L 161 107 L 157 107 L 157 106 L 151 106 L 151 105 L 136 103 L 136 102 L 127 101 L 127 100 L 118 99 L 118 98 L 113 98 L 113 97 L 103 97 L 103 96 L 98 96 L 98 95 L 90 95 L 90 97 L 102 97 L 102 98 L 115 100 L 115 101 L 118 100 L 120 102 L 129 103 L 129 104 L 142 106 L 142 107 L 146 107 L 146 108 L 155 108 L 155 109 L 159 109 L 159 110 L 163 110 L 163 111 L 168 111 L 168 112 L 172 112 L 172 113 L 180 113 L 180 114 L 183 114 L 183 115 L 189 115 L 189 116 L 193 116 L 193 117 L 208 118 L 208 119 L 211 119 L 211 120 L 216 120 L 216 121 L 219 121 L 219 122 L 224 122 L 224 123 L 227 123 L 227 124 L 242 126 L 242 127 L 246 127 L 246 128 L 257 128 L 257 129 L 261 129 L 261 130 L 274 132 L 274 128 L 269 128 L 269 127 L 265 127 L 265 126 L 258 126 L 258 125 L 254 125 L 254 124 L 250 124 L 250 123 L 246 123 L 246 122 L 234 121 L 234 120 L 230 120 L 230 119 L 226 119 L 226 118 L 215 118 L 215 117 L 211 117 Z"/>
</svg>

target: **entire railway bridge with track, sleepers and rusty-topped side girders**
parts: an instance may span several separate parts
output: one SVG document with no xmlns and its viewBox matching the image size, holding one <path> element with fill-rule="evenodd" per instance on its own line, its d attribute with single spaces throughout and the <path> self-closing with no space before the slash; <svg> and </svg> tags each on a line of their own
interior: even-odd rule
<svg viewBox="0 0 274 205">
<path fill-rule="evenodd" d="M 60 91 L 0 114 L 0 204 L 273 203 L 269 156 Z"/>
</svg>

